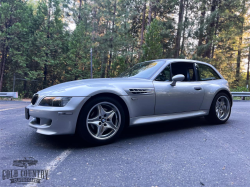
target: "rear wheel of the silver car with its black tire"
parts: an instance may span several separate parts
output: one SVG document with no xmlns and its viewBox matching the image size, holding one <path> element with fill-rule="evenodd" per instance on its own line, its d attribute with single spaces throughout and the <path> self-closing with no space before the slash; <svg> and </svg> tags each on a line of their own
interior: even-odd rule
<svg viewBox="0 0 250 187">
<path fill-rule="evenodd" d="M 231 106 L 232 104 L 228 95 L 218 93 L 212 102 L 209 115 L 205 116 L 205 119 L 214 124 L 223 124 L 230 117 Z"/>
</svg>

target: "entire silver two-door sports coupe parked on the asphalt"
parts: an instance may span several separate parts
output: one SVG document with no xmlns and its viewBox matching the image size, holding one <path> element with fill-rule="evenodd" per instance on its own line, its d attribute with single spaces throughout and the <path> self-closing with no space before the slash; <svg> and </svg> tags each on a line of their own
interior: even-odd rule
<svg viewBox="0 0 250 187">
<path fill-rule="evenodd" d="M 225 123 L 228 82 L 210 64 L 184 59 L 138 63 L 117 78 L 85 79 L 34 94 L 29 126 L 45 135 L 77 133 L 91 144 L 114 141 L 129 125 L 205 116 Z"/>
</svg>

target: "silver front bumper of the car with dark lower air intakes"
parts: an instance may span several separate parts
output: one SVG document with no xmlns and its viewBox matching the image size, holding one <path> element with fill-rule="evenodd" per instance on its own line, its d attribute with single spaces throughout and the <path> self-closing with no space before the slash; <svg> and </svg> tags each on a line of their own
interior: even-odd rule
<svg viewBox="0 0 250 187">
<path fill-rule="evenodd" d="M 48 107 L 30 104 L 29 126 L 45 135 L 74 134 L 77 118 L 88 97 L 72 97 L 64 107 Z"/>
</svg>

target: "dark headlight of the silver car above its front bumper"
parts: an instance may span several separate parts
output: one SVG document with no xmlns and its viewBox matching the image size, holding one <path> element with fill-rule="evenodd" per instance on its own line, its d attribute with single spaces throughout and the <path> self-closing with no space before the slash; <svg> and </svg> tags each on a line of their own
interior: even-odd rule
<svg viewBox="0 0 250 187">
<path fill-rule="evenodd" d="M 72 97 L 45 97 L 39 103 L 39 106 L 63 107 Z"/>
</svg>

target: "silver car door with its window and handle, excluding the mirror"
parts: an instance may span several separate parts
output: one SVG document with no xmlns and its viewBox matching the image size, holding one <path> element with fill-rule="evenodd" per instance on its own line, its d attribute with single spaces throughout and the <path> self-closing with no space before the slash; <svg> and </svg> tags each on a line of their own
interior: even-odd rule
<svg viewBox="0 0 250 187">
<path fill-rule="evenodd" d="M 185 79 L 171 86 L 172 76 L 183 74 Z M 165 77 L 165 78 L 164 78 Z M 202 84 L 197 81 L 194 63 L 169 64 L 153 81 L 156 93 L 155 114 L 198 111 L 204 97 Z"/>
</svg>

